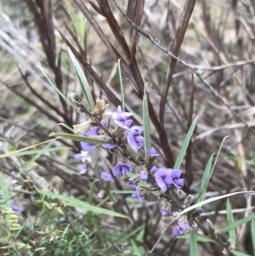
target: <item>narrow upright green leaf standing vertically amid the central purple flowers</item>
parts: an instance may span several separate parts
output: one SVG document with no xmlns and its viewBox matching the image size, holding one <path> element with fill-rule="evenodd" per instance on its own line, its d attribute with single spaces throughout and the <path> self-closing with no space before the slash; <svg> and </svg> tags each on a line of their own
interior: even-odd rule
<svg viewBox="0 0 255 256">
<path fill-rule="evenodd" d="M 143 119 L 144 119 L 145 162 L 147 162 L 149 153 L 150 153 L 150 147 L 151 147 L 151 132 L 150 132 L 150 115 L 149 115 L 148 98 L 146 94 L 146 85 L 144 86 Z"/>
</svg>

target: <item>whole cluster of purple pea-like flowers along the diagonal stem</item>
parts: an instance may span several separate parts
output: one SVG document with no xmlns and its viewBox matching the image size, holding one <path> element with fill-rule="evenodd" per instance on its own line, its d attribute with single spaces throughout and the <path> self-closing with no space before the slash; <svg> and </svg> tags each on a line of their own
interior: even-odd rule
<svg viewBox="0 0 255 256">
<path fill-rule="evenodd" d="M 100 178 L 106 180 L 107 184 L 110 184 L 114 181 L 114 177 L 120 175 L 129 177 L 129 185 L 133 189 L 131 196 L 137 197 L 141 203 L 144 200 L 144 196 L 150 194 L 151 191 L 158 191 L 161 197 L 165 199 L 165 203 L 161 208 L 161 215 L 167 216 L 170 213 L 172 216 L 176 216 L 177 213 L 171 213 L 171 204 L 173 203 L 171 195 L 173 193 L 170 190 L 175 191 L 174 193 L 179 199 L 186 198 L 178 210 L 188 207 L 192 202 L 192 198 L 186 196 L 184 191 L 181 190 L 181 187 L 184 185 L 184 179 L 181 178 L 182 171 L 180 169 L 165 167 L 157 168 L 155 166 L 156 157 L 160 156 L 160 154 L 156 152 L 154 147 L 150 149 L 149 160 L 145 162 L 144 127 L 138 125 L 132 126 L 133 120 L 129 119 L 129 117 L 133 114 L 123 111 L 121 106 L 118 106 L 115 112 L 109 114 L 116 125 L 111 133 L 111 139 L 115 144 L 106 144 L 103 147 L 108 150 L 114 150 L 120 147 L 122 162 L 117 163 L 112 168 L 111 174 L 105 171 L 102 172 Z M 104 119 L 100 122 L 101 128 L 102 126 L 106 127 Z M 99 126 L 93 126 L 92 128 L 88 128 L 82 135 L 86 137 L 99 136 L 103 132 L 101 128 Z M 82 142 L 81 144 L 82 151 L 76 157 L 83 162 L 80 174 L 85 174 L 88 168 L 88 156 L 96 145 L 87 142 Z M 132 162 L 135 163 L 136 168 L 131 165 Z M 145 185 L 142 183 L 144 181 Z M 105 191 L 101 190 L 98 198 L 102 198 L 104 194 Z M 181 195 L 184 197 L 181 197 Z M 173 234 L 180 236 L 190 232 L 191 229 L 196 230 L 197 225 L 195 225 L 195 222 L 190 223 L 187 216 L 184 215 L 178 218 L 178 227 L 173 229 Z"/>
</svg>

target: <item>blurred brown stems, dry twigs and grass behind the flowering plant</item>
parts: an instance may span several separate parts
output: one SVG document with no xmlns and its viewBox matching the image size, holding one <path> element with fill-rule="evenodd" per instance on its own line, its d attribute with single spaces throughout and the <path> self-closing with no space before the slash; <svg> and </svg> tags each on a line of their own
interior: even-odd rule
<svg viewBox="0 0 255 256">
<path fill-rule="evenodd" d="M 121 105 L 117 61 L 122 58 L 126 107 L 136 124 L 143 122 L 142 99 L 148 84 L 152 145 L 161 153 L 159 162 L 168 168 L 173 168 L 190 124 L 198 117 L 181 166 L 186 193 L 198 195 L 207 160 L 226 135 L 205 198 L 254 191 L 254 1 L 153 0 L 133 1 L 137 3 L 133 6 L 132 1 L 116 0 L 127 17 L 114 1 L 84 3 L 1 1 L 1 152 L 41 143 L 53 132 L 70 132 L 59 123 L 72 127 L 87 120 L 38 68 L 64 94 L 81 94 L 69 47 L 84 69 L 94 99 L 105 100 L 110 111 Z M 116 165 L 116 157 L 105 151 L 94 152 L 94 173 L 77 175 L 81 163 L 74 154 L 80 150 L 79 142 L 58 139 L 0 158 L 1 194 L 8 187 L 22 210 L 18 229 L 1 219 L 0 255 L 149 254 L 170 217 L 161 217 L 161 205 L 154 197 L 143 204 L 131 199 L 122 179 L 107 188 L 96 181 L 102 171 Z M 132 220 L 90 212 L 65 198 L 39 196 L 37 189 L 77 197 Z M 99 200 L 103 189 L 105 196 Z M 120 191 L 122 198 L 116 196 Z M 237 195 L 229 202 L 234 221 L 253 212 L 252 196 Z M 211 219 L 220 229 L 228 223 L 225 209 L 226 198 L 207 204 L 201 221 Z M 236 249 L 254 255 L 250 223 L 235 231 Z M 151 255 L 188 252 L 189 241 L 174 237 L 170 227 Z M 199 242 L 199 253 L 222 255 L 222 247 Z"/>
</svg>

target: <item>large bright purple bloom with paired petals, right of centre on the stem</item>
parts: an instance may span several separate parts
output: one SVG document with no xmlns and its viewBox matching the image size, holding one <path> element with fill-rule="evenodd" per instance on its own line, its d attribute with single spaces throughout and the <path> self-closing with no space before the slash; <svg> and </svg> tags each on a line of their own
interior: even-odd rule
<svg viewBox="0 0 255 256">
<path fill-rule="evenodd" d="M 179 178 L 181 173 L 178 169 L 159 168 L 156 172 L 156 184 L 162 192 L 166 192 L 169 185 L 174 185 L 179 190 L 179 187 L 184 185 L 184 179 Z"/>
</svg>

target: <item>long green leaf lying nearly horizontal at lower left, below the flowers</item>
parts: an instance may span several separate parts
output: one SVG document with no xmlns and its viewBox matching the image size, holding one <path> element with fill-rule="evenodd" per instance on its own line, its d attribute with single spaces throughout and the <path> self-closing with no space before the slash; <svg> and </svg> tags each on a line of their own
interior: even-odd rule
<svg viewBox="0 0 255 256">
<path fill-rule="evenodd" d="M 81 200 L 78 200 L 77 198 L 73 198 L 70 196 L 54 194 L 54 193 L 48 192 L 48 191 L 39 191 L 39 193 L 42 194 L 43 196 L 57 198 L 57 199 L 65 202 L 66 205 L 71 206 L 73 208 L 81 208 L 83 210 L 94 212 L 97 214 L 107 214 L 107 215 L 120 217 L 120 218 L 128 218 L 126 215 L 124 215 L 122 213 L 116 213 L 115 211 L 111 211 L 111 210 L 104 209 L 104 208 L 99 208 L 99 207 L 89 204 L 88 202 L 82 202 Z"/>
</svg>

